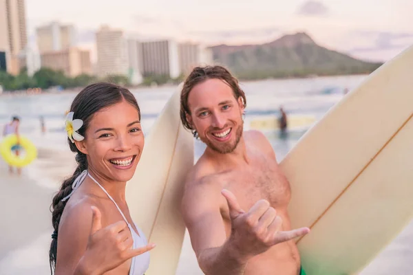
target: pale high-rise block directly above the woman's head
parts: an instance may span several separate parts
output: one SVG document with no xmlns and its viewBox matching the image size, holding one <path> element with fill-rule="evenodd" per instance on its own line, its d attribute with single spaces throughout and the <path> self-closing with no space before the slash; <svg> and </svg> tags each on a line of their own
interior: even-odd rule
<svg viewBox="0 0 413 275">
<path fill-rule="evenodd" d="M 103 25 L 96 32 L 96 50 L 98 76 L 127 76 L 129 67 L 127 41 L 122 30 Z"/>
</svg>

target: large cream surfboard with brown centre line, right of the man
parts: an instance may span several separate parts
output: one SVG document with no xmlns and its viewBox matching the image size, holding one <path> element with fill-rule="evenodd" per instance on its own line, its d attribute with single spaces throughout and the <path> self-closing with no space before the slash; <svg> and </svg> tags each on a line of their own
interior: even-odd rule
<svg viewBox="0 0 413 275">
<path fill-rule="evenodd" d="M 309 275 L 357 274 L 413 218 L 413 47 L 385 63 L 280 164 Z"/>
</svg>

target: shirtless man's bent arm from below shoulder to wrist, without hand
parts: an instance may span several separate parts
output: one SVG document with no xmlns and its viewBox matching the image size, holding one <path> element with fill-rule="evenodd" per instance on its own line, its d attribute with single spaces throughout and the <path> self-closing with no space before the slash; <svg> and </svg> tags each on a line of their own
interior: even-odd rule
<svg viewBox="0 0 413 275">
<path fill-rule="evenodd" d="M 209 275 L 244 274 L 246 259 L 226 241 L 218 185 L 193 182 L 182 199 L 182 215 L 201 270 Z"/>
</svg>

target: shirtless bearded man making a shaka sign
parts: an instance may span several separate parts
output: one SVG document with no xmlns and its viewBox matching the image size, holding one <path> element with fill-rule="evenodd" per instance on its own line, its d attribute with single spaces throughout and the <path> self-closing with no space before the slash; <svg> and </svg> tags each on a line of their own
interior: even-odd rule
<svg viewBox="0 0 413 275">
<path fill-rule="evenodd" d="M 195 67 L 181 94 L 182 123 L 207 144 L 187 177 L 182 215 L 205 274 L 297 275 L 290 186 L 258 131 L 243 133 L 244 91 L 224 67 Z"/>
</svg>

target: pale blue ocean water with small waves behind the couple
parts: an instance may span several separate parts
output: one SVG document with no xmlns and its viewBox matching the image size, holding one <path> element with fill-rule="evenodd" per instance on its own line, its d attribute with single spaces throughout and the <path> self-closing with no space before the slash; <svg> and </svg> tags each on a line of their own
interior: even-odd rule
<svg viewBox="0 0 413 275">
<path fill-rule="evenodd" d="M 335 76 L 286 80 L 262 80 L 240 83 L 246 93 L 247 107 L 244 128 L 251 129 L 251 122 L 276 118 L 279 106 L 290 116 L 310 116 L 317 122 L 341 98 L 345 89 L 357 87 L 366 76 Z M 142 129 L 149 133 L 151 125 L 176 87 L 140 88 L 131 90 L 136 96 L 142 113 Z M 76 93 L 61 92 L 38 95 L 0 96 L 0 126 L 10 121 L 12 115 L 21 118 L 21 134 L 40 144 L 43 139 L 40 117 L 47 128 L 47 146 L 67 147 L 64 128 L 65 111 Z M 280 138 L 275 129 L 264 133 L 270 140 L 278 160 L 281 160 L 313 123 L 289 130 L 288 137 Z M 52 142 L 50 142 L 52 140 Z M 43 144 L 44 145 L 44 144 Z M 67 148 L 68 150 L 68 148 Z M 202 142 L 195 142 L 195 159 L 204 150 Z"/>
</svg>

